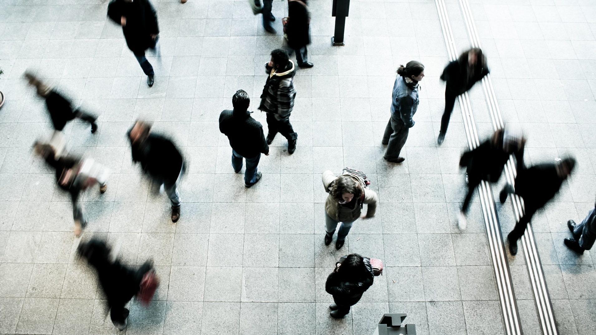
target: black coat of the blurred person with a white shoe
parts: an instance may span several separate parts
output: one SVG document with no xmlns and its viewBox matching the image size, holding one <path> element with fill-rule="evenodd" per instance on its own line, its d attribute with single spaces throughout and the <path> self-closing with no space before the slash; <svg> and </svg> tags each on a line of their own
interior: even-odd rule
<svg viewBox="0 0 596 335">
<path fill-rule="evenodd" d="M 514 152 L 518 171 L 523 168 L 523 150 L 524 146 Z M 460 166 L 467 167 L 468 180 L 471 184 L 478 184 L 481 180 L 495 183 L 501 177 L 510 155 L 489 139 L 472 151 L 464 152 L 460 159 Z"/>
</svg>

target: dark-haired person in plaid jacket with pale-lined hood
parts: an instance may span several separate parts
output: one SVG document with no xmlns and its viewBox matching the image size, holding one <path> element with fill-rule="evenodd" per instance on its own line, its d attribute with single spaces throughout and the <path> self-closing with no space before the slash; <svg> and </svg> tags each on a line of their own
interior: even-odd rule
<svg viewBox="0 0 596 335">
<path fill-rule="evenodd" d="M 288 154 L 296 151 L 298 134 L 290 124 L 290 114 L 294 108 L 296 89 L 294 89 L 294 62 L 288 59 L 284 49 L 271 51 L 271 60 L 265 64 L 269 76 L 263 87 L 259 109 L 267 113 L 267 144 L 270 145 L 277 133 L 288 140 Z"/>
</svg>

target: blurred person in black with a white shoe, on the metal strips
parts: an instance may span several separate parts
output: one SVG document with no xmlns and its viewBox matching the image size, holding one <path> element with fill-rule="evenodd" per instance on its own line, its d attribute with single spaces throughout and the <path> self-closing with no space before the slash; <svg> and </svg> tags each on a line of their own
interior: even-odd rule
<svg viewBox="0 0 596 335">
<path fill-rule="evenodd" d="M 503 168 L 510 155 L 514 155 L 517 168 L 523 167 L 523 151 L 526 143 L 522 131 L 516 127 L 499 129 L 492 138 L 481 143 L 472 151 L 464 152 L 460 159 L 460 167 L 467 168 L 468 193 L 458 215 L 461 230 L 465 229 L 465 214 L 474 194 L 474 189 L 482 180 L 495 183 L 501 177 Z"/>
</svg>

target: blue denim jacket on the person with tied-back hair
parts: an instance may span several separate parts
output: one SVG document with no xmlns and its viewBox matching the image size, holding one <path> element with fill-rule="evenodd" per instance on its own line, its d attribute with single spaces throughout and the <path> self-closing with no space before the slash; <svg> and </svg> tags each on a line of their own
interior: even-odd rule
<svg viewBox="0 0 596 335">
<path fill-rule="evenodd" d="M 399 76 L 393 84 L 391 117 L 402 120 L 406 127 L 414 127 L 414 114 L 418 109 L 418 83 L 406 77 Z"/>
</svg>

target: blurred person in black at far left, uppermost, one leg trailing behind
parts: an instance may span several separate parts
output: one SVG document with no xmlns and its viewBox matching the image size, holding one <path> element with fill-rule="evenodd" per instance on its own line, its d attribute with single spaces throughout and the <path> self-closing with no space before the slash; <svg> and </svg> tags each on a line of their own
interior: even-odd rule
<svg viewBox="0 0 596 335">
<path fill-rule="evenodd" d="M 79 108 L 73 110 L 70 101 L 64 98 L 64 96 L 58 93 L 55 89 L 52 89 L 48 84 L 43 83 L 32 73 L 27 71 L 24 76 L 30 85 L 35 86 L 38 95 L 45 99 L 45 105 L 48 108 L 49 117 L 52 119 L 54 130 L 61 132 L 68 121 L 80 118 L 91 124 L 91 133 L 97 131 L 97 123 L 95 123 L 97 117 L 87 114 Z"/>
</svg>

